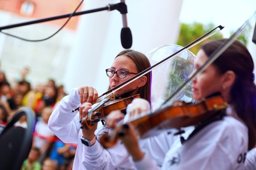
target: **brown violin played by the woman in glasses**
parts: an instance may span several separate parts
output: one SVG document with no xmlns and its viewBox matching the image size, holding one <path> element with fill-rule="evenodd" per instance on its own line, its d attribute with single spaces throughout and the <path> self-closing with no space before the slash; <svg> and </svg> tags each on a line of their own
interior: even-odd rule
<svg viewBox="0 0 256 170">
<path fill-rule="evenodd" d="M 134 98 L 140 98 L 140 94 L 111 101 L 110 98 L 104 99 L 80 120 L 80 123 L 83 124 L 81 128 L 92 129 L 95 122 L 98 122 L 100 118 L 105 118 L 113 110 L 124 112 Z"/>
</svg>

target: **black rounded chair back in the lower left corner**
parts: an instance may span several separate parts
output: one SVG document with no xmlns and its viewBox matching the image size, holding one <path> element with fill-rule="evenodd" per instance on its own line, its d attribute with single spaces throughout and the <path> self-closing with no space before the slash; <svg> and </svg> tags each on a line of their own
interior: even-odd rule
<svg viewBox="0 0 256 170">
<path fill-rule="evenodd" d="M 20 120 L 21 116 L 27 116 L 28 128 L 15 127 L 14 123 Z M 28 158 L 31 146 L 36 118 L 29 107 L 23 107 L 8 122 L 0 134 L 0 169 L 17 170 L 21 169 L 23 161 Z"/>
</svg>

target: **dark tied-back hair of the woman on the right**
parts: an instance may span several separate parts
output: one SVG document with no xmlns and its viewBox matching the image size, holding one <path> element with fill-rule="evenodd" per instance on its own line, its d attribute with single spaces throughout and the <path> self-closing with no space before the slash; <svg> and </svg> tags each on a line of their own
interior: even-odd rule
<svg viewBox="0 0 256 170">
<path fill-rule="evenodd" d="M 202 45 L 201 49 L 209 56 L 225 41 L 226 39 L 214 40 Z M 221 74 L 228 70 L 235 73 L 235 82 L 229 93 L 229 103 L 248 127 L 250 150 L 256 143 L 256 86 L 253 82 L 252 56 L 247 48 L 236 40 L 213 62 L 213 65 Z"/>
</svg>

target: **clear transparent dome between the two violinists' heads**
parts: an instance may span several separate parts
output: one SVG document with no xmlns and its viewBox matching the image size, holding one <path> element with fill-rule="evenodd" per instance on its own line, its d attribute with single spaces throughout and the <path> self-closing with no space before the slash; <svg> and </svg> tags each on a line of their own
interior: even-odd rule
<svg viewBox="0 0 256 170">
<path fill-rule="evenodd" d="M 146 56 L 149 58 L 151 66 L 153 66 L 182 48 L 183 47 L 179 45 L 163 45 L 149 51 Z M 157 109 L 188 79 L 189 75 L 194 70 L 195 58 L 196 56 L 192 52 L 183 50 L 178 56 L 171 57 L 167 62 L 152 70 L 151 101 L 153 110 Z M 191 84 L 191 82 L 187 83 L 185 87 L 168 102 L 171 103 L 175 100 L 191 102 Z"/>
</svg>

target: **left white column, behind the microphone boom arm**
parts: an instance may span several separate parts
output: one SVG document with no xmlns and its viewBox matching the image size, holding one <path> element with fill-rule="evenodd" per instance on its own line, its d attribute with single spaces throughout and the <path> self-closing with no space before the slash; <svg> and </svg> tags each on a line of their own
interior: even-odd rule
<svg viewBox="0 0 256 170">
<path fill-rule="evenodd" d="M 106 6 L 98 0 L 84 1 L 83 10 Z M 82 15 L 64 74 L 66 91 L 80 85 L 93 86 L 108 35 L 110 13 L 107 11 Z"/>
</svg>

